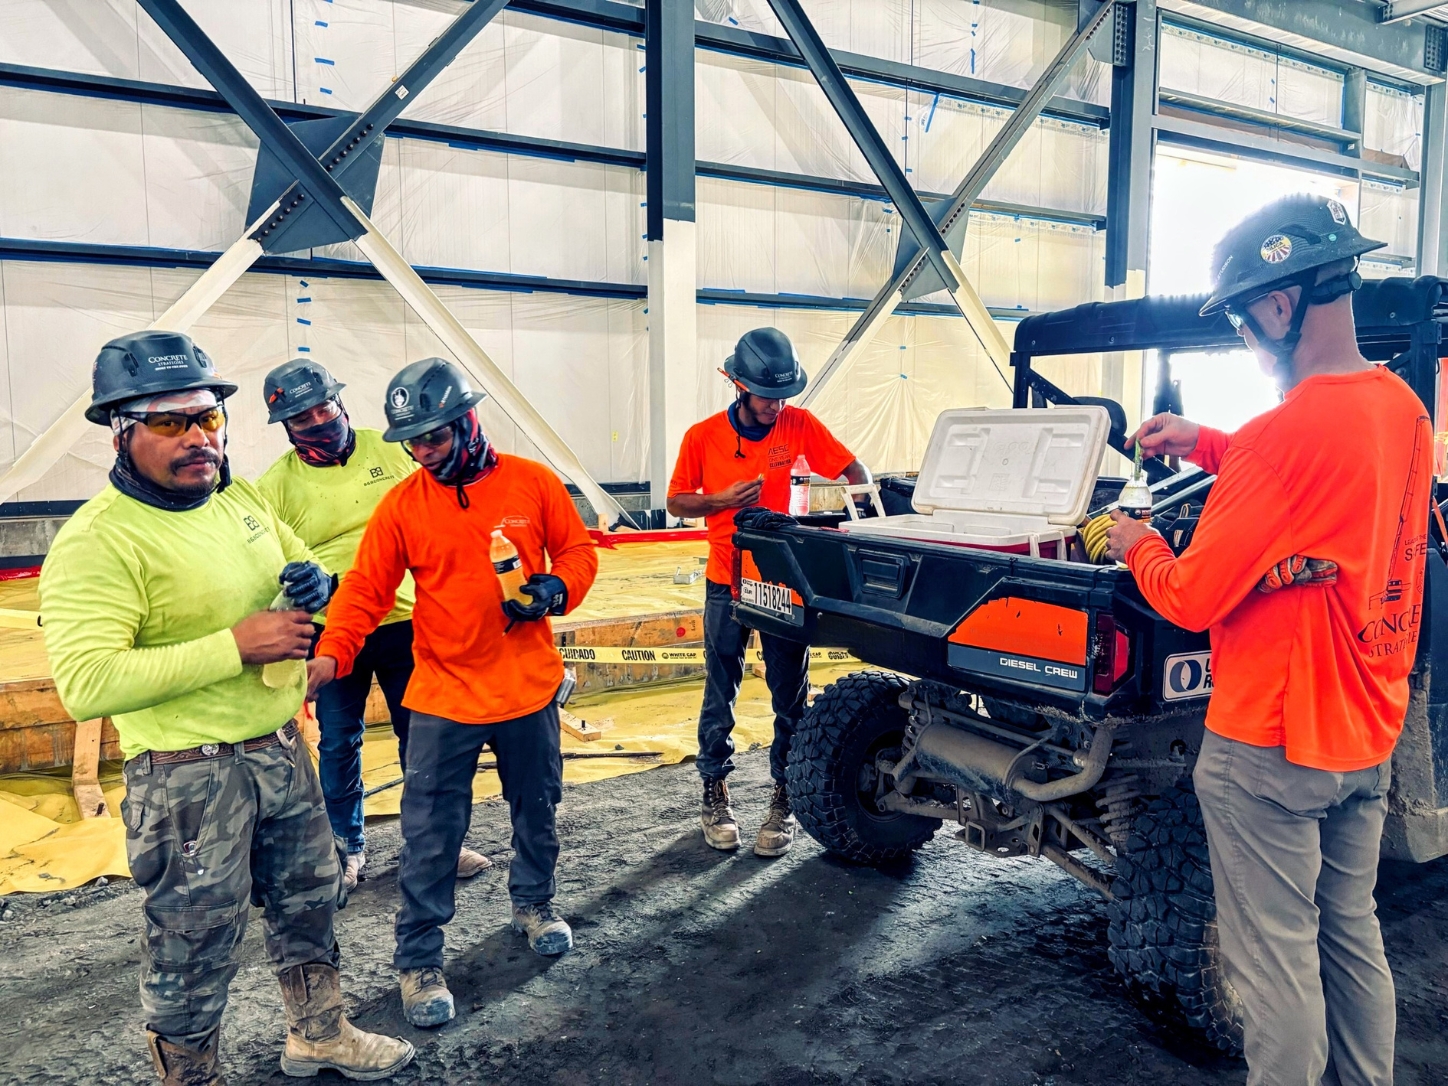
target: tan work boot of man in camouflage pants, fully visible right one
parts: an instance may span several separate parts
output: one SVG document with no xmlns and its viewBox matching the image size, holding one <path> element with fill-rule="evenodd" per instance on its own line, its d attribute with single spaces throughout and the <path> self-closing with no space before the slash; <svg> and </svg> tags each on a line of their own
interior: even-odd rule
<svg viewBox="0 0 1448 1086">
<path fill-rule="evenodd" d="M 342 1014 L 342 976 L 334 966 L 310 963 L 281 975 L 287 1008 L 287 1047 L 281 1069 L 294 1079 L 333 1070 L 348 1079 L 387 1079 L 413 1061 L 413 1045 L 397 1037 L 368 1034 Z"/>
</svg>

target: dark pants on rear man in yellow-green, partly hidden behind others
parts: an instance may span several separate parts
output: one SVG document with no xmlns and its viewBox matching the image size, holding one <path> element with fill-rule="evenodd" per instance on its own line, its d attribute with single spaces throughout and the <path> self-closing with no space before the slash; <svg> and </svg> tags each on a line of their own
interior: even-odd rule
<svg viewBox="0 0 1448 1086">
<path fill-rule="evenodd" d="M 403 705 L 403 695 L 413 678 L 411 621 L 376 627 L 362 643 L 352 670 L 317 691 L 321 794 L 327 798 L 332 833 L 342 838 L 349 853 L 359 853 L 366 847 L 362 830 L 362 734 L 366 730 L 363 714 L 374 675 L 387 698 L 392 731 L 397 733 L 398 763 L 405 767 L 411 710 Z"/>
</svg>

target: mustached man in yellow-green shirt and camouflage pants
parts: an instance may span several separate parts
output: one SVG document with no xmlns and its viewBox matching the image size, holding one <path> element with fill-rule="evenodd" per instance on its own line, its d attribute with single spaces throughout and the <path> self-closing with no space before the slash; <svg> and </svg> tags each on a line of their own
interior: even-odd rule
<svg viewBox="0 0 1448 1086">
<path fill-rule="evenodd" d="M 161 1082 L 223 1083 L 222 1012 L 253 901 L 287 1009 L 282 1070 L 382 1079 L 413 1045 L 342 1014 L 342 864 L 291 723 L 311 615 L 334 578 L 232 479 L 235 391 L 190 336 L 140 332 L 101 349 L 85 417 L 110 427 L 116 465 L 45 559 L 45 649 L 67 711 L 120 733 L 126 856 L 146 895 L 140 1006 Z"/>
</svg>

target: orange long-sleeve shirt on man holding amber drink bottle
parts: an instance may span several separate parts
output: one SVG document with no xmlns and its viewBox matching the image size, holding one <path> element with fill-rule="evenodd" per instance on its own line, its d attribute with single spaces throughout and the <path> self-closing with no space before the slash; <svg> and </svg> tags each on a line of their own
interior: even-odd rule
<svg viewBox="0 0 1448 1086">
<path fill-rule="evenodd" d="M 588 595 L 598 555 L 572 498 L 542 463 L 500 456 L 458 491 L 420 471 L 400 482 L 368 521 L 352 569 L 327 607 L 317 656 L 352 670 L 362 641 L 392 610 L 403 573 L 417 585 L 413 679 L 403 704 L 462 724 L 497 724 L 537 712 L 563 681 L 563 657 L 547 618 L 504 633 L 502 589 L 488 547 L 502 529 L 523 572 L 553 573 L 568 585 L 568 610 Z"/>
</svg>

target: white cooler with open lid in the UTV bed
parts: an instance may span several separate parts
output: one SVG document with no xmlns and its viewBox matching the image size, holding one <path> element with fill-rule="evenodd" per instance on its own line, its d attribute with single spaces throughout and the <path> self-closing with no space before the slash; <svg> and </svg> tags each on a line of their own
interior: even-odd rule
<svg viewBox="0 0 1448 1086">
<path fill-rule="evenodd" d="M 944 411 L 915 482 L 915 513 L 840 527 L 1064 560 L 1109 432 L 1103 407 Z"/>
</svg>

